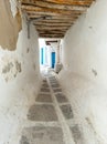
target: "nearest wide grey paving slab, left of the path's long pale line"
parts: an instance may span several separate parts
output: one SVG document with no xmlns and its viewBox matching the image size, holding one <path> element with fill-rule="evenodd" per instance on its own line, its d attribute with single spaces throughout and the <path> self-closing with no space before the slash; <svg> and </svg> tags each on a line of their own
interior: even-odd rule
<svg viewBox="0 0 107 144">
<path fill-rule="evenodd" d="M 63 132 L 61 127 L 34 126 L 23 131 L 26 141 L 21 138 L 21 144 L 65 144 L 63 141 Z"/>
</svg>

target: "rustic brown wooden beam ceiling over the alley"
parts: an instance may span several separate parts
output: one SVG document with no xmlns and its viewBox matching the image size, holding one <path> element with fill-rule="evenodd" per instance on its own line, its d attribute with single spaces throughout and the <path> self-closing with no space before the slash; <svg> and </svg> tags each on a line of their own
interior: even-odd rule
<svg viewBox="0 0 107 144">
<path fill-rule="evenodd" d="M 40 38 L 63 38 L 95 0 L 20 0 L 22 12 Z"/>
</svg>

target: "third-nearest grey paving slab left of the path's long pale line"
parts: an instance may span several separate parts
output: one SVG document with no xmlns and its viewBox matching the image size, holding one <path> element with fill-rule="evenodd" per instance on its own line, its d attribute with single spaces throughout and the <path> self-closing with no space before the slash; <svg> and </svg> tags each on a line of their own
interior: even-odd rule
<svg viewBox="0 0 107 144">
<path fill-rule="evenodd" d="M 52 102 L 51 94 L 39 94 L 36 97 L 38 102 Z"/>
</svg>

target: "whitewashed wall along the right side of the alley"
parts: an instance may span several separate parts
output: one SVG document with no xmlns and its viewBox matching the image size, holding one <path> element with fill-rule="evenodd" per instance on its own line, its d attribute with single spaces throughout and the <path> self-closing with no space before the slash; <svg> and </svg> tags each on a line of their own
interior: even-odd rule
<svg viewBox="0 0 107 144">
<path fill-rule="evenodd" d="M 107 144 L 107 0 L 97 0 L 62 41 L 60 81 L 84 144 Z"/>
</svg>

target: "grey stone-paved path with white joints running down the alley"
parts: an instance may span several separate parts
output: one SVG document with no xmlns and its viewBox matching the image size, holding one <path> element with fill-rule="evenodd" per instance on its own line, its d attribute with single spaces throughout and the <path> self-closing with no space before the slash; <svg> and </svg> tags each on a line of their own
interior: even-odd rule
<svg viewBox="0 0 107 144">
<path fill-rule="evenodd" d="M 55 76 L 44 76 L 35 104 L 28 112 L 33 126 L 24 127 L 20 144 L 83 144 L 73 110 Z"/>
</svg>

